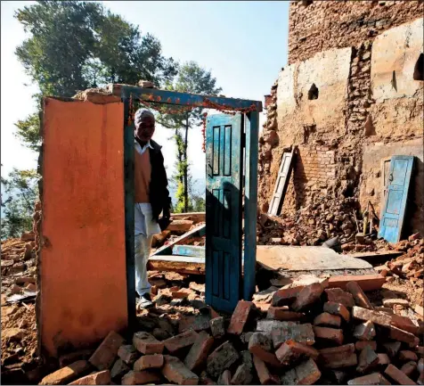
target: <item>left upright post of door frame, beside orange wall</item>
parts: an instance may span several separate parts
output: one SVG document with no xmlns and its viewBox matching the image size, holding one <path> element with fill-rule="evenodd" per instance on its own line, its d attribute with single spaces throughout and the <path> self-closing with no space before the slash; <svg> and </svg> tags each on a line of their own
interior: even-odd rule
<svg viewBox="0 0 424 386">
<path fill-rule="evenodd" d="M 129 100 L 124 99 L 124 202 L 125 202 L 125 249 L 126 291 L 128 308 L 128 332 L 135 330 L 135 203 L 134 203 L 134 123 L 127 126 Z"/>
</svg>

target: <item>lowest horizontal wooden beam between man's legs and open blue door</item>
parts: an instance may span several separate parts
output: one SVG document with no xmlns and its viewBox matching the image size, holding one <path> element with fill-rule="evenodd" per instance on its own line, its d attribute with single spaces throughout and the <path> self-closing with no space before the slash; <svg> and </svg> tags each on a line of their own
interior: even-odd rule
<svg viewBox="0 0 424 386">
<path fill-rule="evenodd" d="M 205 275 L 205 259 L 188 256 L 151 256 L 147 267 L 153 271 L 173 271 L 187 275 Z"/>
</svg>

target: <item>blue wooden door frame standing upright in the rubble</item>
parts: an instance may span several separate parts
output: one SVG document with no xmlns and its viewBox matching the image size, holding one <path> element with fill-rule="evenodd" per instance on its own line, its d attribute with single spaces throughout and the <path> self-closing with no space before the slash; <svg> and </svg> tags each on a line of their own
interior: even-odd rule
<svg viewBox="0 0 424 386">
<path fill-rule="evenodd" d="M 244 184 L 244 267 L 242 299 L 250 300 L 255 292 L 257 253 L 257 153 L 260 101 L 225 98 L 199 94 L 176 93 L 154 88 L 110 85 L 110 92 L 120 95 L 124 103 L 124 168 L 125 168 L 125 230 L 126 283 L 128 327 L 135 329 L 135 262 L 134 262 L 134 124 L 130 120 L 131 99 L 146 103 L 206 107 L 220 106 L 226 111 L 245 113 L 245 184 Z M 208 214 L 207 214 L 208 216 Z M 208 246 L 207 246 L 208 248 Z"/>
</svg>

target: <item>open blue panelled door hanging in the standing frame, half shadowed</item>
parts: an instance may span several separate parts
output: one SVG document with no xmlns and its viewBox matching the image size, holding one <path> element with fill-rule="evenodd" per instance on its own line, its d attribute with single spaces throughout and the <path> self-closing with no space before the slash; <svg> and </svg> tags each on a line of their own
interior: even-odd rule
<svg viewBox="0 0 424 386">
<path fill-rule="evenodd" d="M 206 301 L 232 312 L 241 299 L 241 114 L 210 116 L 206 127 Z"/>
</svg>

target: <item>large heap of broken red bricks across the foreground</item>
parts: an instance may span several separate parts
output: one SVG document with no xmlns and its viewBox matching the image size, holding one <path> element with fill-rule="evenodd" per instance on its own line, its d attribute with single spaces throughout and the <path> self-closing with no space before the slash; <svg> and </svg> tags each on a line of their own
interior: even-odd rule
<svg viewBox="0 0 424 386">
<path fill-rule="evenodd" d="M 424 384 L 424 324 L 374 307 L 355 282 L 327 284 L 282 288 L 260 307 L 241 300 L 228 318 L 151 311 L 130 341 L 111 332 L 41 384 Z"/>
</svg>

